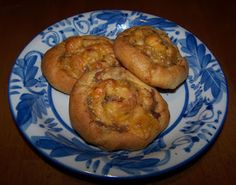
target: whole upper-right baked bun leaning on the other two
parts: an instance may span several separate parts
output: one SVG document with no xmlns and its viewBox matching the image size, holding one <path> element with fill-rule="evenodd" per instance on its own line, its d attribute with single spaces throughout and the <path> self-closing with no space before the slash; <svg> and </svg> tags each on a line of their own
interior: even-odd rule
<svg viewBox="0 0 236 185">
<path fill-rule="evenodd" d="M 175 89 L 188 75 L 188 64 L 161 30 L 135 26 L 121 32 L 114 42 L 120 62 L 145 83 Z"/>
</svg>

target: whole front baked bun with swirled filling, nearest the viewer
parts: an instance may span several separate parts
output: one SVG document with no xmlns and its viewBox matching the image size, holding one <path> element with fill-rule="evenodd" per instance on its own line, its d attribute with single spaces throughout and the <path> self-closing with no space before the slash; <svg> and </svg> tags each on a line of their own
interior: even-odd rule
<svg viewBox="0 0 236 185">
<path fill-rule="evenodd" d="M 123 67 L 83 74 L 71 91 L 69 114 L 82 138 L 108 151 L 144 148 L 170 118 L 157 90 Z"/>
</svg>

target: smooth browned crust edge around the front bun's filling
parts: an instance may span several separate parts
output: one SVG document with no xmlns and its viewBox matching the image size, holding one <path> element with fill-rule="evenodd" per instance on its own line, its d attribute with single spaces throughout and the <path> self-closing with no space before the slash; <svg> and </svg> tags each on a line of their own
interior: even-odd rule
<svg viewBox="0 0 236 185">
<path fill-rule="evenodd" d="M 143 138 L 140 138 L 130 132 L 117 132 L 99 126 L 91 118 L 91 114 L 89 113 L 89 108 L 87 106 L 86 94 L 86 92 L 88 92 L 89 85 L 92 83 L 93 78 L 91 76 L 94 76 L 95 74 L 96 72 L 90 72 L 90 74 L 84 74 L 80 78 L 80 81 L 75 84 L 71 92 L 69 101 L 69 113 L 72 127 L 88 143 L 97 145 L 109 151 L 118 149 L 138 150 L 147 146 L 161 131 L 167 127 L 170 119 L 168 105 L 158 92 L 155 93 L 155 99 L 159 105 L 157 111 L 161 114 L 160 129 L 157 133 L 155 133 L 155 135 L 153 135 L 153 137 L 143 140 Z"/>
</svg>

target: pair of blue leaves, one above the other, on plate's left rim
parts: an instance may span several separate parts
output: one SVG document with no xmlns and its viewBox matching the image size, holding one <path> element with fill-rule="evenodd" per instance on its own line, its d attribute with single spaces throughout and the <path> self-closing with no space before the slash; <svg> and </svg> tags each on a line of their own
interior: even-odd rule
<svg viewBox="0 0 236 185">
<path fill-rule="evenodd" d="M 36 78 L 38 67 L 35 66 L 37 60 L 41 60 L 42 54 L 38 51 L 28 52 L 23 59 L 18 59 L 13 68 L 13 74 L 18 76 L 11 82 L 12 84 L 22 82 L 28 93 L 22 93 L 19 97 L 19 103 L 16 106 L 17 124 L 26 129 L 29 124 L 36 123 L 37 119 L 42 119 L 47 115 L 49 107 L 46 90 L 47 86 L 43 76 Z M 19 85 L 10 86 L 10 95 L 20 94 Z"/>
</svg>

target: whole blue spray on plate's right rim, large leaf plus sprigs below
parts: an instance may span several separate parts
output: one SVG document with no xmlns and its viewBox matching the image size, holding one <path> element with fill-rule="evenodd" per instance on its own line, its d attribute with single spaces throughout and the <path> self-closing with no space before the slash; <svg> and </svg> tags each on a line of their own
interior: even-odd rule
<svg viewBox="0 0 236 185">
<path fill-rule="evenodd" d="M 181 50 L 187 54 L 186 59 L 193 72 L 189 76 L 189 82 L 195 92 L 195 99 L 188 104 L 184 117 L 198 119 L 186 121 L 186 126 L 181 131 L 209 142 L 208 137 L 211 137 L 216 129 L 214 124 L 219 122 L 222 114 L 220 110 L 215 110 L 214 104 L 226 93 L 226 82 L 217 61 L 207 53 L 205 45 L 198 43 L 191 33 L 185 34 L 186 38 L 181 39 L 179 43 Z M 206 91 L 210 91 L 211 98 L 204 96 Z"/>
</svg>

